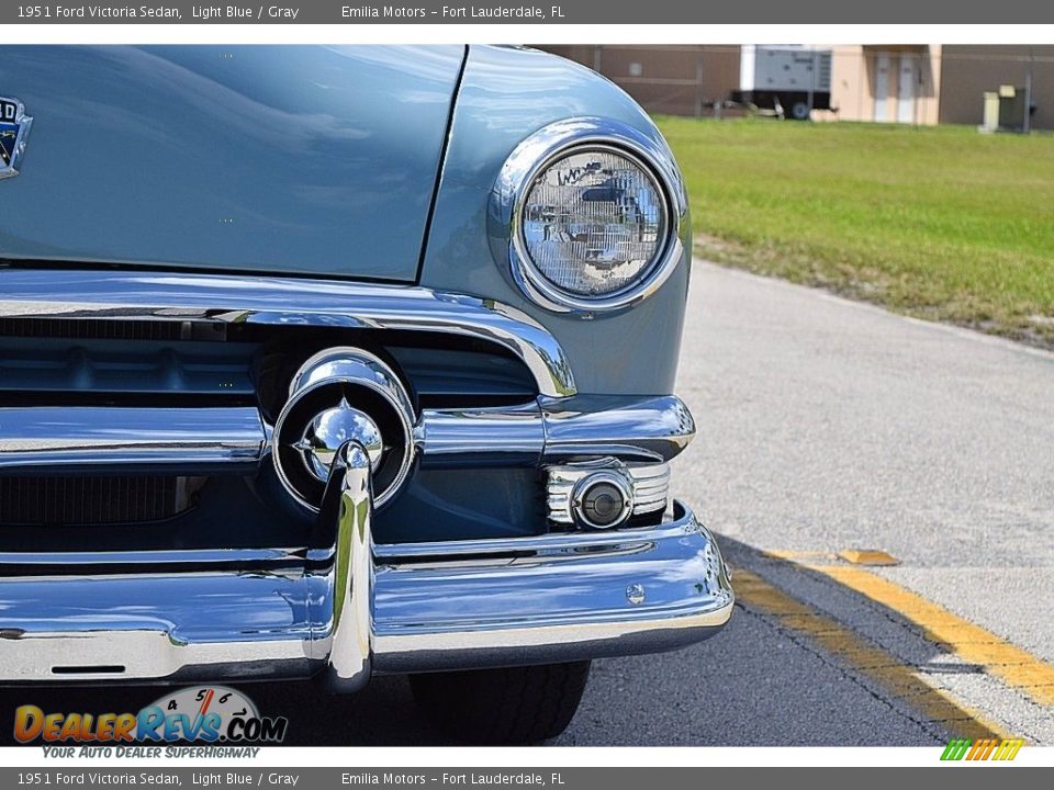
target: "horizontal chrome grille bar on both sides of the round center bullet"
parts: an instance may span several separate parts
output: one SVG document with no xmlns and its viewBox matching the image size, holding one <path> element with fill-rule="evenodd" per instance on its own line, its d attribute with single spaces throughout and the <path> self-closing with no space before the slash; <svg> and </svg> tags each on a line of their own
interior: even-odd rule
<svg viewBox="0 0 1054 790">
<path fill-rule="evenodd" d="M 579 402 L 574 397 L 563 403 L 570 408 Z M 414 451 L 429 467 L 534 466 L 590 456 L 654 464 L 674 458 L 695 432 L 684 404 L 672 395 L 591 396 L 576 410 L 553 411 L 551 406 L 551 400 L 542 400 L 425 409 L 414 428 Z M 249 473 L 267 455 L 270 436 L 255 406 L 0 407 L 0 471 L 53 466 L 64 473 L 77 467 Z"/>
</svg>

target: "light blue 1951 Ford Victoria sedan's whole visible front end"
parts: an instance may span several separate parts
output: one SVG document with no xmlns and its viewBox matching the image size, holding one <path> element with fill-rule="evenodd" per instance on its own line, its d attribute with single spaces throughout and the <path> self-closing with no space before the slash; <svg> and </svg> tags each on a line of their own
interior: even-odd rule
<svg viewBox="0 0 1054 790">
<path fill-rule="evenodd" d="M 0 47 L 0 682 L 407 674 L 470 741 L 732 610 L 681 174 L 496 47 Z"/>
</svg>

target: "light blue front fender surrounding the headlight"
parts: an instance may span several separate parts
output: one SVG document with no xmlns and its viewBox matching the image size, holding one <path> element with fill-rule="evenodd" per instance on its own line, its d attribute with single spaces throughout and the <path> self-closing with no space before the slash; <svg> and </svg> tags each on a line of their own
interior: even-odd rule
<svg viewBox="0 0 1054 790">
<path fill-rule="evenodd" d="M 583 320 L 527 300 L 507 261 L 496 260 L 489 244 L 487 202 L 505 159 L 542 126 L 581 116 L 621 121 L 665 147 L 637 103 L 593 71 L 535 50 L 470 48 L 421 282 L 494 298 L 537 318 L 563 346 L 580 392 L 670 394 L 689 252 L 659 291 L 637 306 Z"/>
</svg>

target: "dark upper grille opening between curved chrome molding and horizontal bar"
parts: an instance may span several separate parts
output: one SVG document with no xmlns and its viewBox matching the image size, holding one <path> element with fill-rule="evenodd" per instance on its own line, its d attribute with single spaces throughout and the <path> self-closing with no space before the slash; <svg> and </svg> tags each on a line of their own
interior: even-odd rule
<svg viewBox="0 0 1054 790">
<path fill-rule="evenodd" d="M 0 317 L 0 406 L 255 403 L 273 419 L 293 372 L 334 346 L 362 348 L 418 408 L 527 403 L 527 365 L 479 338 L 429 331 L 193 321 Z"/>
</svg>

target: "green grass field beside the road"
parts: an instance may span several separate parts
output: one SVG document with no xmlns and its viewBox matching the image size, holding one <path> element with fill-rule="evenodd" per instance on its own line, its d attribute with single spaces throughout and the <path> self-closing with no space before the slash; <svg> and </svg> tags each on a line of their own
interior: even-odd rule
<svg viewBox="0 0 1054 790">
<path fill-rule="evenodd" d="M 1054 136 L 658 123 L 704 257 L 1054 346 Z"/>
</svg>

